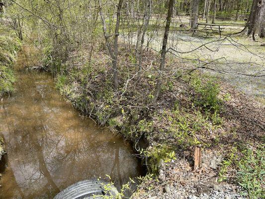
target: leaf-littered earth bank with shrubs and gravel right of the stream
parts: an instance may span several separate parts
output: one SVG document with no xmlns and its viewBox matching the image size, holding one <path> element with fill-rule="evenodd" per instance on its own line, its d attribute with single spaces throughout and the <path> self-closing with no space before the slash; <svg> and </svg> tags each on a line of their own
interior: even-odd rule
<svg viewBox="0 0 265 199">
<path fill-rule="evenodd" d="M 199 73 L 179 77 L 184 71 L 173 59 L 167 60 L 162 93 L 152 103 L 159 58 L 145 52 L 143 70 L 135 74 L 128 46 L 120 48 L 120 88 L 114 91 L 111 61 L 103 46 L 94 47 L 91 61 L 85 48 L 72 51 L 64 63 L 50 53 L 44 66 L 55 74 L 59 92 L 83 115 L 134 142 L 149 174 L 132 198 L 236 198 L 241 190 L 263 196 L 263 170 L 249 176 L 246 169 L 264 165 L 259 159 L 264 154 L 262 104 Z M 146 150 L 139 146 L 143 140 Z M 195 147 L 202 148 L 197 170 Z M 251 163 L 253 158 L 257 165 Z M 245 186 L 253 184 L 253 178 L 256 187 Z"/>
</svg>

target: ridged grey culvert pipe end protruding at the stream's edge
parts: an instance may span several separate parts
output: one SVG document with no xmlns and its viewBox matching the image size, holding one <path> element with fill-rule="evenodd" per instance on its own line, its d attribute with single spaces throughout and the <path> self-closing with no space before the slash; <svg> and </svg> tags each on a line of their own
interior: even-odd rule
<svg viewBox="0 0 265 199">
<path fill-rule="evenodd" d="M 109 188 L 108 191 L 104 190 L 104 186 Z M 113 196 L 115 198 L 117 194 L 117 189 L 104 181 L 84 180 L 67 187 L 54 199 L 101 199 L 100 196 Z"/>
</svg>

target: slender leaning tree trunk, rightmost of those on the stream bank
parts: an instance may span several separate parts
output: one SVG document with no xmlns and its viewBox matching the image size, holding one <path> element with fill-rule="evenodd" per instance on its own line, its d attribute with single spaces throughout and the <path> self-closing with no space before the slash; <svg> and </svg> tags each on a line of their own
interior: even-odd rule
<svg viewBox="0 0 265 199">
<path fill-rule="evenodd" d="M 175 5 L 175 0 L 169 0 L 167 23 L 166 23 L 166 27 L 165 27 L 165 33 L 164 33 L 164 38 L 163 38 L 162 50 L 161 50 L 161 61 L 160 61 L 160 67 L 159 67 L 159 76 L 158 76 L 158 80 L 157 80 L 157 86 L 156 86 L 153 101 L 156 101 L 158 99 L 158 96 L 159 96 L 160 90 L 161 90 L 162 76 L 163 76 L 162 72 L 164 71 L 165 64 L 166 64 L 165 62 L 166 62 L 168 36 L 169 36 L 169 29 L 170 29 L 170 23 L 171 23 L 174 5 Z"/>
</svg>

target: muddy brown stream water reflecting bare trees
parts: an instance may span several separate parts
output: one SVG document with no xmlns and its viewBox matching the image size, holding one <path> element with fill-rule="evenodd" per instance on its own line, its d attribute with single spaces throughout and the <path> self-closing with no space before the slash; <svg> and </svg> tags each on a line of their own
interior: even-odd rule
<svg viewBox="0 0 265 199">
<path fill-rule="evenodd" d="M 49 74 L 18 72 L 15 93 L 0 104 L 6 168 L 0 199 L 51 199 L 85 179 L 109 175 L 119 189 L 143 174 L 130 143 L 77 110 Z"/>
</svg>

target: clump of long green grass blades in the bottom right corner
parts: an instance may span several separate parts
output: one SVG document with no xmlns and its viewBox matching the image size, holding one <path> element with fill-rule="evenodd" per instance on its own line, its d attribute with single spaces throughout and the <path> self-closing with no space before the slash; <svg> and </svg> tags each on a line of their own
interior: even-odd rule
<svg viewBox="0 0 265 199">
<path fill-rule="evenodd" d="M 265 145 L 256 151 L 243 151 L 243 158 L 238 162 L 237 179 L 239 184 L 248 192 L 250 199 L 265 198 Z"/>
</svg>

